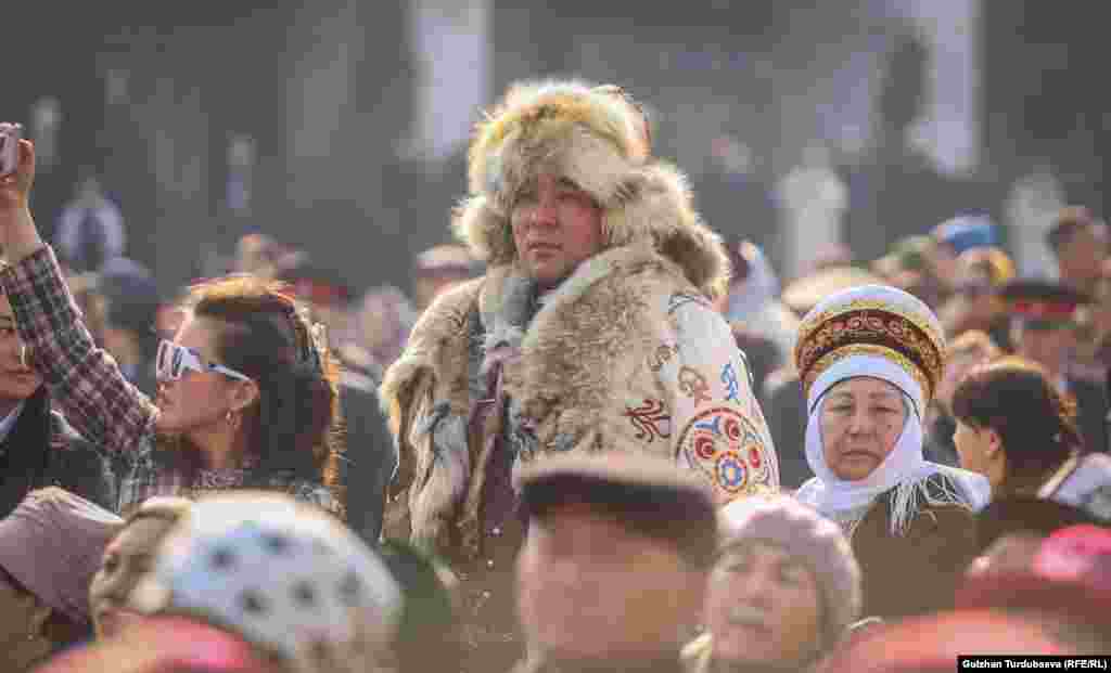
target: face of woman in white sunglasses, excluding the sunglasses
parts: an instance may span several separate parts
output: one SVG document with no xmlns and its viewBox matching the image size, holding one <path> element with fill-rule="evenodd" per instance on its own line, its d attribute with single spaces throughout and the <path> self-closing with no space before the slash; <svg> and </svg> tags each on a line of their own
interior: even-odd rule
<svg viewBox="0 0 1111 673">
<path fill-rule="evenodd" d="M 217 356 L 219 321 L 188 317 L 178 329 L 174 342 L 200 353 L 201 360 L 223 364 Z M 219 372 L 184 370 L 177 381 L 160 381 L 158 386 L 158 430 L 186 433 L 224 423 L 232 409 L 233 386 L 240 384 Z"/>
</svg>

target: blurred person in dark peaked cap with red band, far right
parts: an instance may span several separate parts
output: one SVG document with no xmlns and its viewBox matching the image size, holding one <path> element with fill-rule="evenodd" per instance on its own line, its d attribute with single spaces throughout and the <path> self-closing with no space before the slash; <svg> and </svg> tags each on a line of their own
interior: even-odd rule
<svg viewBox="0 0 1111 673">
<path fill-rule="evenodd" d="M 1084 445 L 1107 451 L 1108 399 L 1102 380 L 1073 368 L 1079 319 L 1090 298 L 1054 281 L 1017 279 L 1000 289 L 1011 315 L 1014 354 L 1040 364 L 1050 382 L 1077 405 Z"/>
</svg>

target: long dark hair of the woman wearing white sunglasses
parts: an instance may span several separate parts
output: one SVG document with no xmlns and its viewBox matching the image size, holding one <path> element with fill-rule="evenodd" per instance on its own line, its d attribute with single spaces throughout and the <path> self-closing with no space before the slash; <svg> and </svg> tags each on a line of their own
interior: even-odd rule
<svg viewBox="0 0 1111 673">
<path fill-rule="evenodd" d="M 194 317 L 219 321 L 221 363 L 259 386 L 243 418 L 248 453 L 263 472 L 319 481 L 342 503 L 339 371 L 304 309 L 280 283 L 247 274 L 193 285 L 187 304 Z"/>
</svg>

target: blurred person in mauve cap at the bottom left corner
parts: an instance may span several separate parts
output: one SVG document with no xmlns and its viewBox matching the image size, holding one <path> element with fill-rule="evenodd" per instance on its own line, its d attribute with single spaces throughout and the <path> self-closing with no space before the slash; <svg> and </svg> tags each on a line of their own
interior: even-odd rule
<svg viewBox="0 0 1111 673">
<path fill-rule="evenodd" d="M 87 640 L 89 582 L 119 516 L 51 486 L 0 520 L 0 661 L 28 671 Z"/>
</svg>

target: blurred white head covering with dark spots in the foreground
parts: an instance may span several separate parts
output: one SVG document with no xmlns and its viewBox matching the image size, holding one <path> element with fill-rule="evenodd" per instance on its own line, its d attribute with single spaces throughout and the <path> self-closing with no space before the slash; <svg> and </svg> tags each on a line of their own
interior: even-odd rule
<svg viewBox="0 0 1111 673">
<path fill-rule="evenodd" d="M 334 518 L 281 493 L 239 492 L 178 520 L 128 605 L 233 633 L 279 673 L 363 673 L 393 667 L 404 599 Z"/>
</svg>

